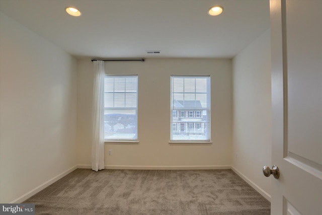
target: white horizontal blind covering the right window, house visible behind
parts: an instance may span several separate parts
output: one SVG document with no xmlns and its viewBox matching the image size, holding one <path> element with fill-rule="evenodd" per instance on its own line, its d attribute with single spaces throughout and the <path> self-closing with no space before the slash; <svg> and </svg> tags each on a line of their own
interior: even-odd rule
<svg viewBox="0 0 322 215">
<path fill-rule="evenodd" d="M 171 141 L 210 141 L 210 76 L 171 76 L 171 113 Z"/>
</svg>

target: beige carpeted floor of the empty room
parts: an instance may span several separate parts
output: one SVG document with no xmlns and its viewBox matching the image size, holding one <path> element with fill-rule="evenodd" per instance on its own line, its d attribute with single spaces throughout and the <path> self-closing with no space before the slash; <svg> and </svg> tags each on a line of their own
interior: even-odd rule
<svg viewBox="0 0 322 215">
<path fill-rule="evenodd" d="M 36 214 L 270 214 L 231 170 L 77 169 L 25 203 Z"/>
</svg>

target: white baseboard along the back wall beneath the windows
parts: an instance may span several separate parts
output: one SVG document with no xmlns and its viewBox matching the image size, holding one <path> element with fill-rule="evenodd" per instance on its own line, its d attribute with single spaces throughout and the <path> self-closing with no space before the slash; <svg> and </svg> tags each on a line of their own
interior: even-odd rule
<svg viewBox="0 0 322 215">
<path fill-rule="evenodd" d="M 91 165 L 77 165 L 79 169 L 92 169 Z M 106 165 L 105 169 L 119 170 L 217 170 L 230 169 L 230 166 L 126 166 L 126 165 Z"/>
</svg>

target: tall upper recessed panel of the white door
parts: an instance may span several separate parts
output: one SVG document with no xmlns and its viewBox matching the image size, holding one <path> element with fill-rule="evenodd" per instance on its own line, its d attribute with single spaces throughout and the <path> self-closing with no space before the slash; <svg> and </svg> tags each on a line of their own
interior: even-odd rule
<svg viewBox="0 0 322 215">
<path fill-rule="evenodd" d="M 321 1 L 286 2 L 288 151 L 319 165 L 322 165 L 321 4 Z"/>
</svg>

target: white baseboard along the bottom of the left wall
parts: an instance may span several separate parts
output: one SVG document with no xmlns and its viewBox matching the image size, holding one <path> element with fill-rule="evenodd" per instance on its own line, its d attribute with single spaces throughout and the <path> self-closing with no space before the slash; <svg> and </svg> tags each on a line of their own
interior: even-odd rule
<svg viewBox="0 0 322 215">
<path fill-rule="evenodd" d="M 72 171 L 74 171 L 75 169 L 77 169 L 77 166 L 74 166 L 62 173 L 60 173 L 59 175 L 53 177 L 52 179 L 49 179 L 48 181 L 46 181 L 45 183 L 39 185 L 38 187 L 36 187 L 35 189 L 29 191 L 28 193 L 20 196 L 19 198 L 13 200 L 12 202 L 10 202 L 11 204 L 15 204 L 15 203 L 21 203 L 25 200 L 27 200 L 28 198 L 30 198 L 31 196 L 35 195 L 36 193 L 38 193 L 39 191 L 45 189 L 46 187 L 48 187 L 49 185 L 51 185 L 52 183 L 58 181 L 59 179 L 61 179 L 62 177 L 64 177 L 65 175 L 71 173 Z"/>
</svg>

